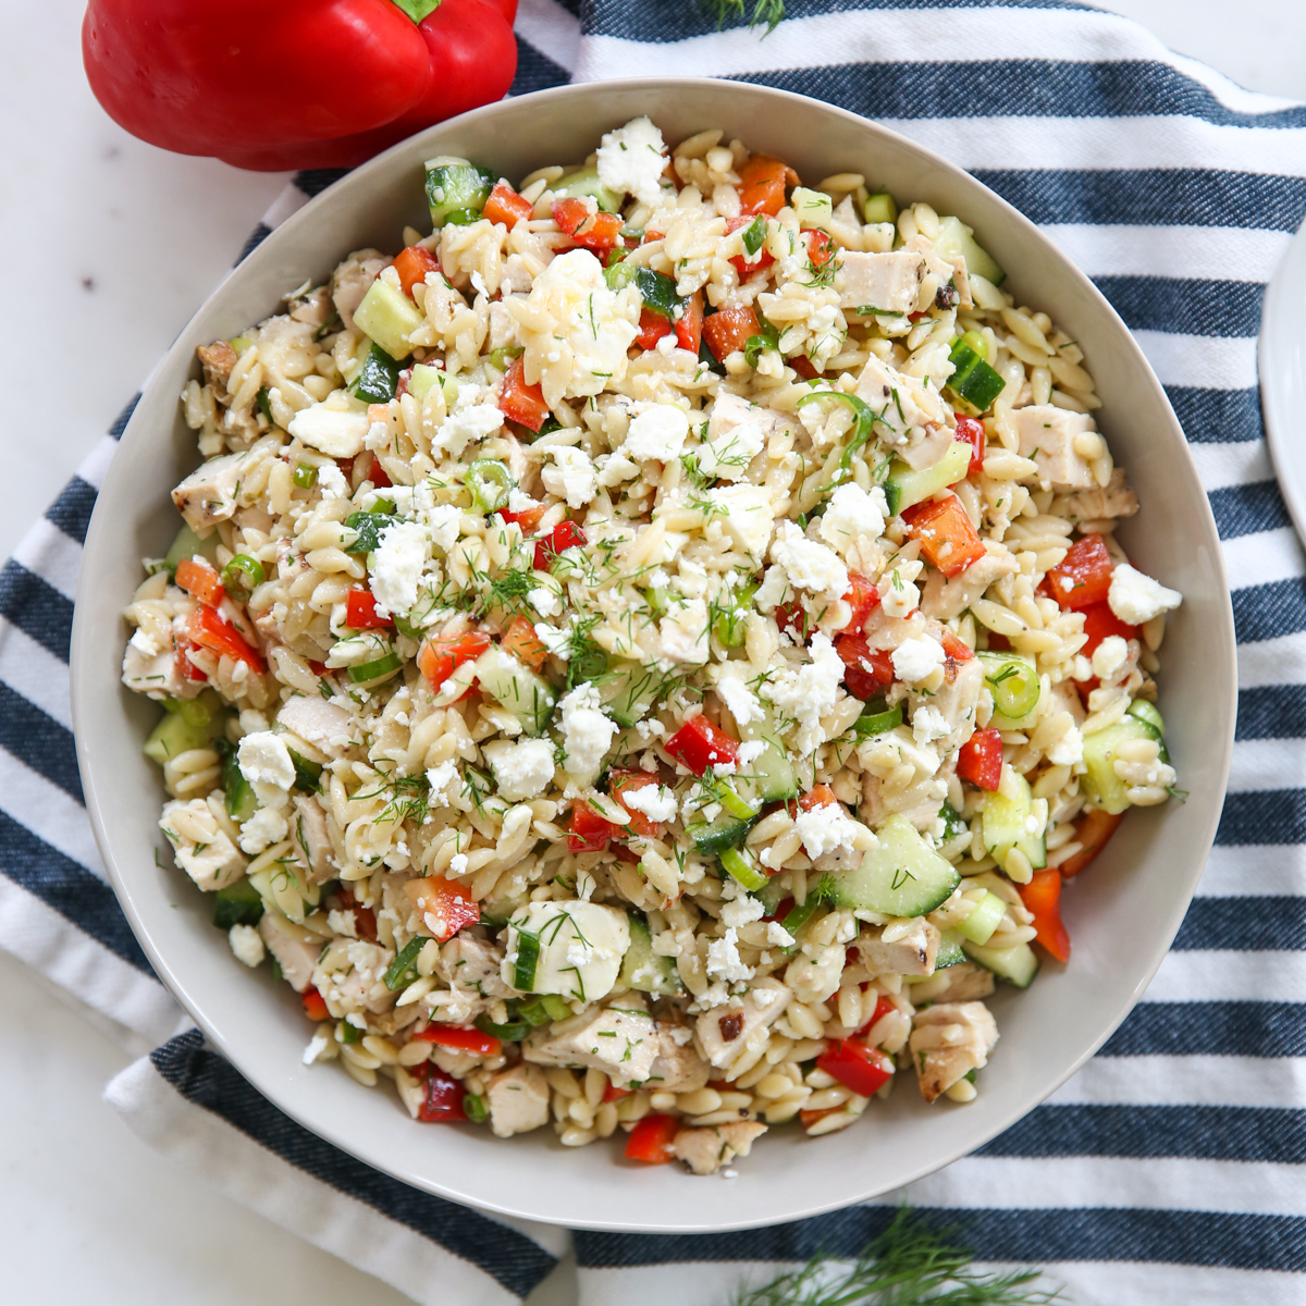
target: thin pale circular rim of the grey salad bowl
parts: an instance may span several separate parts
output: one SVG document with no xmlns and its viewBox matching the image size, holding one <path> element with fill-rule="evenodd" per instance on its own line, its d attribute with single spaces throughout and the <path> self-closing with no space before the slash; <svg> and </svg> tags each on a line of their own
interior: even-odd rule
<svg viewBox="0 0 1306 1306">
<path fill-rule="evenodd" d="M 546 103 L 554 101 L 576 99 L 582 103 L 588 95 L 602 94 L 607 91 L 626 91 L 626 93 L 657 93 L 666 90 L 667 88 L 684 88 L 684 89 L 710 89 L 713 93 L 729 93 L 730 88 L 738 88 L 741 91 L 748 91 L 750 94 L 761 93 L 767 97 L 774 98 L 777 107 L 782 107 L 785 103 L 797 103 L 820 110 L 823 114 L 832 115 L 835 118 L 842 119 L 846 123 L 855 125 L 859 131 L 867 135 L 868 145 L 874 145 L 876 137 L 893 142 L 896 146 L 906 146 L 910 151 L 917 154 L 922 162 L 927 162 L 934 167 L 939 168 L 942 172 L 951 175 L 951 179 L 960 180 L 964 185 L 978 188 L 986 197 L 995 205 L 998 205 L 1003 219 L 1010 223 L 1019 235 L 1024 239 L 1032 240 L 1043 247 L 1045 253 L 1050 253 L 1055 263 L 1060 268 L 1060 273 L 1079 283 L 1083 293 L 1087 293 L 1094 302 L 1094 308 L 1098 313 L 1109 319 L 1114 328 L 1115 334 L 1119 337 L 1122 345 L 1131 351 L 1135 357 L 1135 362 L 1141 364 L 1141 375 L 1145 376 L 1147 384 L 1153 392 L 1153 398 L 1161 406 L 1161 411 L 1165 413 L 1171 434 L 1178 441 L 1179 447 L 1183 449 L 1183 457 L 1187 458 L 1188 470 L 1191 471 L 1194 479 L 1200 486 L 1200 478 L 1196 474 L 1195 465 L 1192 464 L 1191 453 L 1187 448 L 1187 440 L 1183 435 L 1182 426 L 1174 414 L 1174 410 L 1169 402 L 1164 387 L 1157 379 L 1155 371 L 1148 363 L 1143 350 L 1140 349 L 1134 334 L 1130 332 L 1128 326 L 1123 323 L 1121 316 L 1117 313 L 1110 302 L 1102 295 L 1092 279 L 1083 273 L 1054 242 L 1046 236 L 1029 218 L 1027 218 L 1019 209 L 1011 205 L 1000 195 L 989 189 L 977 178 L 966 172 L 965 168 L 956 163 L 946 159 L 943 155 L 935 153 L 927 146 L 919 145 L 917 141 L 893 131 L 874 119 L 863 118 L 849 110 L 841 108 L 837 104 L 827 103 L 825 101 L 816 99 L 808 95 L 801 95 L 794 91 L 782 90 L 773 86 L 767 86 L 754 82 L 738 82 L 725 78 L 710 78 L 710 77 L 640 77 L 640 78 L 613 78 L 610 81 L 590 81 L 590 82 L 572 82 L 563 86 L 555 86 L 541 91 L 533 91 L 526 95 L 517 95 L 504 101 L 499 101 L 494 104 L 483 106 L 477 110 L 471 110 L 468 114 L 462 114 L 458 118 L 449 119 L 444 123 L 438 123 L 423 132 L 414 133 L 405 141 L 400 141 L 390 146 L 381 154 L 377 154 L 366 163 L 359 165 L 357 168 L 346 172 L 342 178 L 333 182 L 329 187 L 319 192 L 316 196 L 311 197 L 307 204 L 295 210 L 285 222 L 277 226 L 246 259 L 238 263 L 230 273 L 214 287 L 213 293 L 205 299 L 205 302 L 199 307 L 199 310 L 192 315 L 187 326 L 184 326 L 179 334 L 179 338 L 172 345 L 172 347 L 159 359 L 150 376 L 146 379 L 145 384 L 141 387 L 141 397 L 144 398 L 151 389 L 158 388 L 161 383 L 161 375 L 168 370 L 167 364 L 172 363 L 179 354 L 185 354 L 188 358 L 191 355 L 191 349 L 185 343 L 191 326 L 193 323 L 204 317 L 210 306 L 219 299 L 226 291 L 229 281 L 232 276 L 238 276 L 240 269 L 253 269 L 257 272 L 259 264 L 270 259 L 272 252 L 279 246 L 289 242 L 294 242 L 299 227 L 310 221 L 317 212 L 323 208 L 329 206 L 334 202 L 334 199 L 346 188 L 350 187 L 366 187 L 368 179 L 379 172 L 384 172 L 389 167 L 389 162 L 397 154 L 409 151 L 414 148 L 414 144 L 419 141 L 423 136 L 443 133 L 451 128 L 464 123 L 471 123 L 481 119 L 492 119 L 494 116 L 505 112 L 511 108 L 520 107 L 522 102 L 530 103 Z M 123 431 L 121 440 L 133 440 L 140 438 L 140 428 L 144 426 L 145 419 L 141 415 L 145 410 L 144 404 L 137 404 L 136 411 L 132 419 L 128 422 Z M 106 474 L 104 482 L 102 483 L 102 490 L 104 486 L 110 485 L 112 477 L 112 466 Z M 103 502 L 102 496 L 97 498 L 97 508 L 91 516 L 90 526 L 86 534 L 86 543 L 84 551 L 91 554 L 94 551 L 95 543 L 102 533 L 110 533 L 114 529 L 106 515 L 99 511 L 99 505 Z M 1215 518 L 1211 511 L 1209 500 L 1205 494 L 1202 494 L 1202 512 L 1204 513 L 1204 525 L 1209 532 L 1209 538 L 1217 541 L 1218 535 L 1215 526 Z M 1200 841 L 1195 846 L 1200 848 L 1200 857 L 1194 858 L 1194 865 L 1188 868 L 1186 883 L 1182 893 L 1177 893 L 1173 899 L 1173 906 L 1169 913 L 1169 918 L 1165 921 L 1164 929 L 1155 934 L 1156 943 L 1153 944 L 1153 953 L 1148 960 L 1147 966 L 1140 974 L 1138 983 L 1135 985 L 1132 993 L 1128 995 L 1128 1000 L 1124 1002 L 1113 1020 L 1110 1020 L 1101 1034 L 1092 1041 L 1092 1043 L 1083 1049 L 1083 1051 L 1074 1059 L 1074 1062 L 1060 1074 L 1055 1081 L 1047 1083 L 1043 1091 L 1029 1101 L 1027 1105 L 1021 1106 L 1019 1110 L 1011 1110 L 1006 1115 L 1000 1115 L 990 1126 L 980 1128 L 973 1135 L 968 1135 L 968 1141 L 965 1145 L 956 1148 L 952 1155 L 948 1155 L 943 1160 L 922 1162 L 917 1168 L 909 1170 L 906 1174 L 895 1177 L 895 1187 L 902 1187 L 908 1183 L 913 1183 L 929 1174 L 934 1174 L 946 1166 L 953 1164 L 955 1161 L 969 1156 L 977 1148 L 982 1147 L 985 1143 L 990 1141 L 998 1134 L 1002 1134 L 1017 1121 L 1023 1119 L 1030 1110 L 1037 1105 L 1046 1101 L 1058 1088 L 1062 1087 L 1072 1075 L 1075 1075 L 1084 1063 L 1106 1042 L 1106 1040 L 1115 1032 L 1119 1024 L 1126 1019 L 1126 1016 L 1134 1010 L 1143 993 L 1151 983 L 1157 969 L 1160 968 L 1162 960 L 1170 949 L 1170 944 L 1178 932 L 1179 925 L 1183 921 L 1183 916 L 1187 912 L 1188 904 L 1196 889 L 1198 880 L 1200 879 L 1202 871 L 1205 866 L 1207 857 L 1209 855 L 1211 848 L 1215 841 L 1216 828 L 1220 820 L 1220 814 L 1222 810 L 1224 794 L 1228 788 L 1229 767 L 1233 754 L 1233 741 L 1234 741 L 1234 722 L 1237 713 L 1237 640 L 1234 635 L 1233 624 L 1233 609 L 1229 599 L 1229 584 L 1225 571 L 1224 554 L 1222 550 L 1216 547 L 1212 551 L 1212 567 L 1215 571 L 1213 580 L 1217 582 L 1218 589 L 1224 593 L 1224 605 L 1221 611 L 1221 626 L 1222 626 L 1222 643 L 1225 644 L 1225 652 L 1228 656 L 1229 678 L 1225 686 L 1225 703 L 1222 704 L 1222 738 L 1218 739 L 1218 765 L 1216 773 L 1220 777 L 1220 802 L 1213 804 L 1212 810 L 1205 814 L 1204 821 L 1205 828 L 1202 832 Z M 101 804 L 101 795 L 97 786 L 97 771 L 91 763 L 88 750 L 84 743 L 84 731 L 81 725 L 90 718 L 95 710 L 94 703 L 88 701 L 85 697 L 84 684 L 86 677 L 81 674 L 81 667 L 88 662 L 94 653 L 94 631 L 90 619 L 84 614 L 88 613 L 89 605 L 84 602 L 88 592 L 93 588 L 93 568 L 82 567 L 81 575 L 77 584 L 77 594 L 73 613 L 73 628 L 72 628 L 72 645 L 71 645 L 71 663 L 69 663 L 69 679 L 71 679 L 71 697 L 72 697 L 72 720 L 77 750 L 77 763 L 81 773 L 81 781 L 84 786 L 86 811 L 90 816 L 91 828 L 94 832 L 97 846 L 99 848 L 101 855 L 104 861 L 104 866 L 108 871 L 115 896 L 123 908 L 124 914 L 132 927 L 133 934 L 140 942 L 145 955 L 148 956 L 150 965 L 154 968 L 155 976 L 162 981 L 172 996 L 182 1004 L 192 1020 L 204 1032 L 204 1036 L 210 1046 L 219 1051 L 239 1072 L 244 1076 L 268 1101 L 279 1111 L 283 1111 L 287 1117 L 294 1119 L 302 1127 L 310 1130 L 319 1138 L 325 1139 L 332 1145 L 340 1148 L 342 1152 L 355 1157 L 363 1164 L 380 1170 L 381 1173 L 388 1173 L 400 1182 L 407 1183 L 422 1191 L 434 1194 L 436 1196 L 460 1203 L 462 1205 L 471 1207 L 474 1209 L 485 1211 L 492 1215 L 508 1217 L 512 1220 L 528 1220 L 547 1225 L 559 1225 L 564 1228 L 576 1229 L 590 1229 L 598 1232 L 628 1232 L 628 1233 L 653 1233 L 653 1234 L 677 1234 L 677 1233 L 727 1233 L 743 1229 L 757 1229 L 767 1228 L 769 1225 L 777 1225 L 789 1222 L 793 1220 L 808 1218 L 811 1216 L 823 1215 L 829 1211 L 841 1209 L 849 1205 L 854 1205 L 862 1202 L 874 1200 L 882 1196 L 884 1192 L 889 1191 L 883 1183 L 865 1182 L 861 1191 L 853 1192 L 852 1195 L 846 1192 L 840 1192 L 832 1196 L 829 1200 L 820 1202 L 804 1202 L 802 1209 L 789 1209 L 782 1211 L 774 1216 L 767 1215 L 765 1217 L 743 1217 L 743 1218 L 721 1218 L 710 1225 L 704 1225 L 701 1222 L 686 1224 L 678 1221 L 674 1215 L 670 1217 L 660 1217 L 648 1221 L 641 1221 L 640 1224 L 631 1224 L 626 1220 L 576 1220 L 564 1215 L 551 1213 L 545 1209 L 535 1209 L 526 1207 L 518 1202 L 505 1199 L 494 1200 L 483 1195 L 473 1195 L 457 1186 L 457 1179 L 452 1183 L 436 1182 L 426 1175 L 417 1174 L 411 1169 L 402 1170 L 396 1169 L 389 1165 L 381 1165 L 370 1156 L 366 1155 L 366 1147 L 360 1144 L 358 1138 L 351 1138 L 343 1127 L 332 1127 L 332 1124 L 315 1121 L 310 1123 L 304 1119 L 300 1111 L 290 1107 L 283 1101 L 282 1094 L 278 1092 L 278 1085 L 272 1081 L 268 1076 L 260 1075 L 257 1072 L 249 1071 L 244 1064 L 242 1064 L 242 1058 L 239 1049 L 234 1047 L 231 1040 L 223 1037 L 206 1019 L 204 1012 L 202 1002 L 197 1000 L 191 995 L 185 983 L 170 966 L 167 959 L 158 951 L 155 943 L 144 927 L 140 912 L 137 909 L 136 899 L 133 896 L 133 889 L 129 876 L 123 874 L 119 865 L 119 858 L 115 854 L 115 849 L 108 837 L 104 811 Z M 1215 744 L 1216 741 L 1207 741 L 1208 746 Z M 1208 752 L 1209 756 L 1209 752 Z"/>
</svg>

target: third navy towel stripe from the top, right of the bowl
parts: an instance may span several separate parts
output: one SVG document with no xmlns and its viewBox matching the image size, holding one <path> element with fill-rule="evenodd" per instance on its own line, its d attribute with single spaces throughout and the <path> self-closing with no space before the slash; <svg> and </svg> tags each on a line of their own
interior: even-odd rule
<svg viewBox="0 0 1306 1306">
<path fill-rule="evenodd" d="M 1032 222 L 1251 227 L 1296 231 L 1306 178 L 1217 168 L 977 168 L 973 175 Z M 1232 214 L 1237 219 L 1232 221 Z"/>
</svg>

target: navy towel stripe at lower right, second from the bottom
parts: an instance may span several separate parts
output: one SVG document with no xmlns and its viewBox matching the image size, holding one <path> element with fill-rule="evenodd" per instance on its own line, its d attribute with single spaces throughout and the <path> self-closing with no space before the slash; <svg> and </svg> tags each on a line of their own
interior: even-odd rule
<svg viewBox="0 0 1306 1306">
<path fill-rule="evenodd" d="M 1251 1106 L 1038 1106 L 977 1156 L 1306 1161 L 1306 1111 Z"/>
</svg>

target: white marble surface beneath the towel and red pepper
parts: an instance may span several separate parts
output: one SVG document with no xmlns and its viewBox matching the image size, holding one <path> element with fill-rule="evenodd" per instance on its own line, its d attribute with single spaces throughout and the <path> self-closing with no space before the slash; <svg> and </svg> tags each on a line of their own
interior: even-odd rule
<svg viewBox="0 0 1306 1306">
<path fill-rule="evenodd" d="M 1243 0 L 1237 22 L 1226 0 L 1104 8 L 1246 86 L 1306 99 L 1301 0 Z M 283 182 L 165 154 L 116 128 L 82 78 L 81 10 L 81 0 L 0 0 L 9 37 L 0 47 L 0 441 L 18 487 L 0 515 L 0 556 L 227 272 Z M 99 1096 L 128 1053 L 4 956 L 0 991 L 5 1301 L 406 1301 L 138 1144 Z M 565 1272 L 543 1298 L 573 1298 Z"/>
</svg>

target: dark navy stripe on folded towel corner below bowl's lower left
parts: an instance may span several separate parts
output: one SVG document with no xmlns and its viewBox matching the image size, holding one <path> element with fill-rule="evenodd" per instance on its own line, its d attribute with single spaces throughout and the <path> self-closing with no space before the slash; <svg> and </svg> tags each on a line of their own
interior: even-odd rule
<svg viewBox="0 0 1306 1306">
<path fill-rule="evenodd" d="M 229 1062 L 206 1051 L 197 1029 L 157 1047 L 150 1060 L 188 1101 L 222 1117 L 306 1174 L 431 1238 L 508 1292 L 525 1297 L 554 1268 L 555 1258 L 516 1229 L 410 1188 L 310 1134 L 252 1088 Z M 422 1126 L 414 1124 L 413 1132 L 413 1145 L 421 1148 L 426 1141 Z"/>
</svg>

